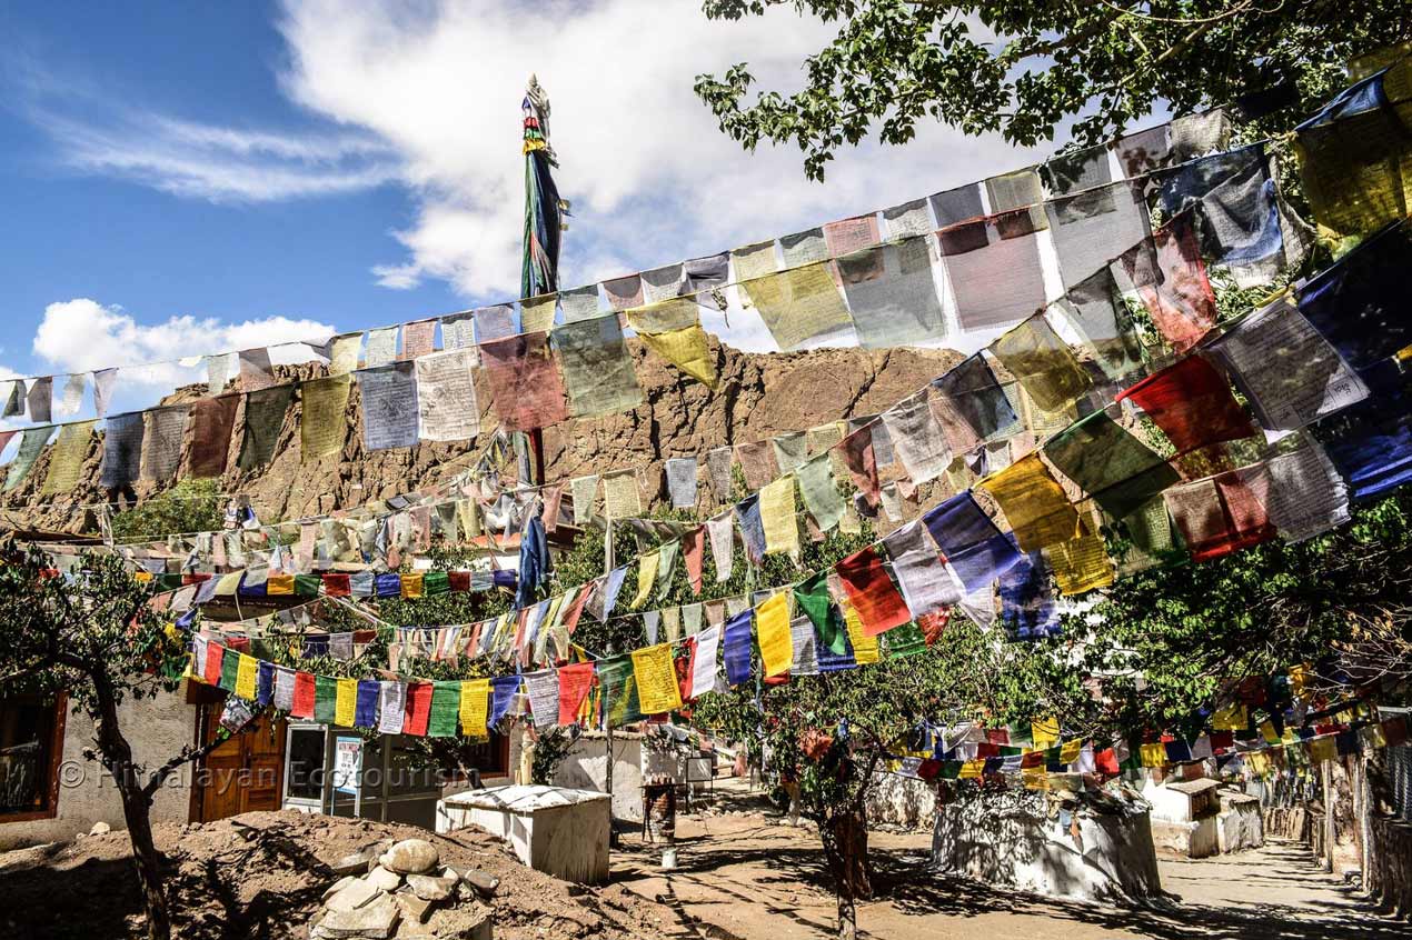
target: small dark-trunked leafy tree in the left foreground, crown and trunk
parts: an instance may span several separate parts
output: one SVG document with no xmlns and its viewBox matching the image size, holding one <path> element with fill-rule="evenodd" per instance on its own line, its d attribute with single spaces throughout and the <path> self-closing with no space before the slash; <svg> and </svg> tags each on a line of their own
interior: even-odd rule
<svg viewBox="0 0 1412 940">
<path fill-rule="evenodd" d="M 154 589 L 133 579 L 114 555 L 79 556 L 72 576 L 48 566 L 42 550 L 8 552 L 0 565 L 0 682 L 6 689 L 66 693 L 93 723 L 93 752 L 117 788 L 133 843 L 152 940 L 171 936 L 161 855 L 152 843 L 151 805 L 182 765 L 209 754 L 184 745 L 161 766 L 136 762 L 119 706 L 175 692 L 188 662 L 184 634 L 150 607 Z"/>
</svg>

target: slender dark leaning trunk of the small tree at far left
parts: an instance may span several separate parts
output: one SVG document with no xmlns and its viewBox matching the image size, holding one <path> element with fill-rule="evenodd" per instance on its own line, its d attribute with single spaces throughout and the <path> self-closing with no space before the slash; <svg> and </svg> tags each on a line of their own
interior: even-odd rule
<svg viewBox="0 0 1412 940">
<path fill-rule="evenodd" d="M 127 823 L 127 837 L 133 843 L 137 882 L 143 891 L 143 905 L 147 908 L 147 936 L 150 940 L 169 940 L 172 922 L 167 908 L 167 892 L 162 889 L 161 855 L 152 841 L 151 797 L 143 792 L 137 768 L 133 766 L 133 748 L 117 727 L 117 699 L 113 686 L 102 670 L 95 672 L 92 679 L 97 711 L 92 716 L 97 749 L 123 800 L 123 820 Z"/>
</svg>

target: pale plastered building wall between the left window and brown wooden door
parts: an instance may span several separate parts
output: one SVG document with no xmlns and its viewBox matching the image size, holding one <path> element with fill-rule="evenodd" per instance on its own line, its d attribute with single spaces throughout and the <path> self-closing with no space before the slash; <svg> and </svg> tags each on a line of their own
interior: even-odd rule
<svg viewBox="0 0 1412 940">
<path fill-rule="evenodd" d="M 117 709 L 119 723 L 138 764 L 155 768 L 189 744 L 196 733 L 196 710 L 186 704 L 185 683 L 175 693 L 151 699 L 127 697 Z M 0 821 L 0 851 L 38 845 L 88 834 L 95 823 L 124 828 L 123 805 L 113 778 L 96 761 L 83 757 L 93 747 L 93 723 L 69 711 L 64 725 L 59 799 L 54 819 L 25 823 Z M 185 823 L 191 809 L 191 765 L 168 779 L 152 802 L 152 821 Z"/>
</svg>

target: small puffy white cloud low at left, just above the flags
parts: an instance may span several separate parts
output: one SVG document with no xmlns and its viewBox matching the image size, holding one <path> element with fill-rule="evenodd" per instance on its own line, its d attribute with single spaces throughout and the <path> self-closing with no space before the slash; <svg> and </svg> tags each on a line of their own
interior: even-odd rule
<svg viewBox="0 0 1412 940">
<path fill-rule="evenodd" d="M 128 405 L 145 405 L 176 385 L 205 380 L 203 364 L 181 366 L 181 358 L 281 343 L 318 343 L 333 333 L 328 323 L 288 316 L 225 322 L 186 315 L 147 325 L 120 306 L 75 298 L 44 308 L 44 319 L 34 333 L 34 353 L 55 374 L 120 366 L 120 387 L 128 395 L 145 395 L 141 401 L 127 399 Z M 309 351 L 302 346 L 282 350 L 282 354 L 273 350 L 271 358 L 305 361 Z"/>
</svg>

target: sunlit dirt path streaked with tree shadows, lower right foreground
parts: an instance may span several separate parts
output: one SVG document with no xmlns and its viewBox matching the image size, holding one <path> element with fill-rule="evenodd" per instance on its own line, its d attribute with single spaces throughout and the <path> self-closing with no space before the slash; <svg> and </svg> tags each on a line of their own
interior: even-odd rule
<svg viewBox="0 0 1412 940">
<path fill-rule="evenodd" d="M 834 902 L 812 830 L 761 813 L 678 819 L 678 871 L 659 848 L 628 837 L 614 879 L 671 906 L 682 937 L 816 940 L 833 934 Z M 1099 937 L 1405 939 L 1406 923 L 1378 917 L 1295 845 L 1202 861 L 1161 862 L 1180 898 L 1161 910 L 1117 909 L 994 891 L 926 871 L 926 834 L 875 833 L 878 899 L 858 908 L 858 936 L 884 940 L 1089 940 Z"/>
</svg>

